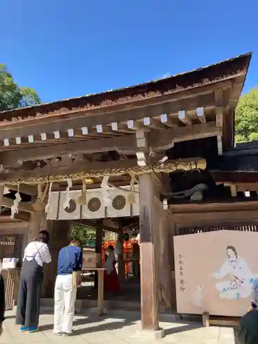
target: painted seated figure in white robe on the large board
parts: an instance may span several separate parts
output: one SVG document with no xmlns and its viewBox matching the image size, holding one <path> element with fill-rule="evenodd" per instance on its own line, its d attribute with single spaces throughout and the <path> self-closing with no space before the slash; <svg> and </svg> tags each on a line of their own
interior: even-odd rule
<svg viewBox="0 0 258 344">
<path fill-rule="evenodd" d="M 211 277 L 222 279 L 230 275 L 230 279 L 216 283 L 219 297 L 222 299 L 245 299 L 252 294 L 252 282 L 257 277 L 250 270 L 246 260 L 239 257 L 234 246 L 227 246 L 228 256 L 222 267 Z"/>
</svg>

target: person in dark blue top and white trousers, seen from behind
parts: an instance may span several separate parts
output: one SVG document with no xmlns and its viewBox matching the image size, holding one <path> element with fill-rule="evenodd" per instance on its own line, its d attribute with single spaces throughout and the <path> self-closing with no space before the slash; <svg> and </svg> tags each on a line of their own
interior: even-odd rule
<svg viewBox="0 0 258 344">
<path fill-rule="evenodd" d="M 76 291 L 80 284 L 82 268 L 83 250 L 80 248 L 80 242 L 73 240 L 69 246 L 61 248 L 58 255 L 54 287 L 54 333 L 58 336 L 72 334 Z"/>
</svg>

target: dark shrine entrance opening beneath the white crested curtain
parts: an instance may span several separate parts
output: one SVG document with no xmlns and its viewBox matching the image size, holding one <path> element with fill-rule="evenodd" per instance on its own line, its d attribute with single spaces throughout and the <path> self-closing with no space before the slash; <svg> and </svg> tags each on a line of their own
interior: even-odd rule
<svg viewBox="0 0 258 344">
<path fill-rule="evenodd" d="M 118 223 L 127 223 L 127 226 L 118 225 Z M 92 264 L 94 252 L 100 253 L 102 263 L 104 263 L 105 252 L 109 245 L 115 248 L 116 271 L 120 283 L 119 294 L 105 293 L 105 305 L 107 308 L 122 308 L 128 310 L 140 310 L 140 246 L 139 237 L 139 219 L 138 217 L 121 218 L 116 222 L 115 219 L 98 219 L 89 226 L 78 220 L 75 224 L 76 233 L 72 230 L 72 235 L 79 238 L 78 228 L 81 230 L 96 231 L 95 247 L 89 245 L 83 246 L 83 255 L 85 259 L 89 257 L 89 264 Z M 82 228 L 84 227 L 84 229 Z M 100 235 L 101 233 L 101 235 Z M 100 243 L 101 239 L 101 243 Z M 117 246 L 120 242 L 120 250 Z M 139 243 L 140 244 L 140 243 Z M 138 246 L 138 251 L 137 251 Z M 96 306 L 98 299 L 98 273 L 92 270 L 83 270 L 83 286 L 78 290 L 78 300 L 83 301 L 85 308 Z"/>
</svg>

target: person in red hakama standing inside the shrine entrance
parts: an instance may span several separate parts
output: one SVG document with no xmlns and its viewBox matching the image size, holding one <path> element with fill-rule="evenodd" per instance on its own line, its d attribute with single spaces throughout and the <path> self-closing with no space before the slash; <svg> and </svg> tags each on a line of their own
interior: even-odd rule
<svg viewBox="0 0 258 344">
<path fill-rule="evenodd" d="M 104 275 L 104 290 L 111 294 L 118 294 L 120 292 L 120 283 L 118 281 L 118 274 L 116 272 L 116 257 L 114 254 L 114 247 L 109 245 L 105 255 L 105 275 Z"/>
</svg>

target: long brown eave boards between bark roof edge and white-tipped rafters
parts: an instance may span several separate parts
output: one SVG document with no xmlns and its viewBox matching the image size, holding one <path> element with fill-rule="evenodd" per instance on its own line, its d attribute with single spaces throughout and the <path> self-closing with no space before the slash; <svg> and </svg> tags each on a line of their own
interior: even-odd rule
<svg viewBox="0 0 258 344">
<path fill-rule="evenodd" d="M 55 116 L 43 116 L 35 118 L 25 118 L 8 124 L 0 125 L 0 140 L 6 138 L 28 137 L 33 135 L 41 135 L 41 133 L 53 133 L 54 131 L 68 131 L 68 129 L 83 128 L 86 133 L 87 127 L 96 127 L 96 125 L 111 125 L 112 122 L 125 122 L 128 118 L 131 120 L 141 120 L 144 114 L 149 117 L 157 117 L 157 108 L 162 105 L 162 113 L 171 112 L 172 107 L 180 106 L 182 103 L 189 101 L 190 107 L 196 108 L 193 98 L 198 97 L 199 105 L 212 105 L 211 95 L 216 89 L 233 87 L 233 80 L 224 80 L 208 85 L 200 85 L 192 89 L 183 89 L 162 96 L 153 96 L 123 105 L 112 105 L 108 107 L 100 107 L 85 111 L 74 111 Z M 202 99 L 203 98 L 203 99 Z M 206 102 L 208 101 L 208 104 Z M 214 101 L 214 100 L 213 100 Z M 198 103 L 197 102 L 197 103 Z M 178 103 L 178 105 L 177 105 Z M 128 106 L 129 104 L 130 107 Z M 188 110 L 186 107 L 183 109 Z M 176 110 L 178 111 L 178 110 Z M 102 116 L 103 115 L 103 116 Z M 131 129 L 131 128 L 130 128 Z"/>
</svg>

